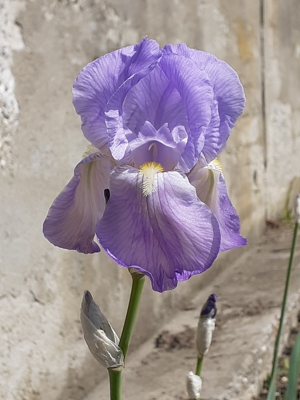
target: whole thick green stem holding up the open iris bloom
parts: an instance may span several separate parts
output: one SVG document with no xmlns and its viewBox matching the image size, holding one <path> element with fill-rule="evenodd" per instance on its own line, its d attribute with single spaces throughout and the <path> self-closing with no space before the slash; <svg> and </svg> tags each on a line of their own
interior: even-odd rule
<svg viewBox="0 0 300 400">
<path fill-rule="evenodd" d="M 132 286 L 129 297 L 128 308 L 125 316 L 124 326 L 121 333 L 119 347 L 123 351 L 124 359 L 126 357 L 130 339 L 133 332 L 134 323 L 137 316 L 137 310 L 145 281 L 145 276 L 141 273 L 132 273 Z M 110 400 L 121 400 L 122 398 L 122 382 L 123 368 L 108 368 Z"/>
</svg>

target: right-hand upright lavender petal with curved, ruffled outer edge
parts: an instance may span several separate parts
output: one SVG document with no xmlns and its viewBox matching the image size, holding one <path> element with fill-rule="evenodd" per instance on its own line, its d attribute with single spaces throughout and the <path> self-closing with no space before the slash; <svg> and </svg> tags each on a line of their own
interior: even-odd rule
<svg viewBox="0 0 300 400">
<path fill-rule="evenodd" d="M 230 130 L 242 113 L 245 97 L 237 73 L 225 62 L 210 53 L 188 48 L 181 43 L 167 44 L 165 54 L 178 54 L 192 60 L 200 70 L 204 70 L 213 86 L 214 102 L 212 119 L 205 131 L 205 143 L 200 153 L 202 165 L 206 165 L 226 145 Z"/>
</svg>

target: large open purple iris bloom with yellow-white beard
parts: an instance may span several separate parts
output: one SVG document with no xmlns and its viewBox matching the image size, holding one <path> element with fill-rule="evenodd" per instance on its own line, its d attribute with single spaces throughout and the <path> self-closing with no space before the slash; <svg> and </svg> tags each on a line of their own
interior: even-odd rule
<svg viewBox="0 0 300 400">
<path fill-rule="evenodd" d="M 54 245 L 106 253 L 154 290 L 241 246 L 216 156 L 244 107 L 237 74 L 185 44 L 142 39 L 86 65 L 73 104 L 91 142 L 44 221 Z"/>
</svg>

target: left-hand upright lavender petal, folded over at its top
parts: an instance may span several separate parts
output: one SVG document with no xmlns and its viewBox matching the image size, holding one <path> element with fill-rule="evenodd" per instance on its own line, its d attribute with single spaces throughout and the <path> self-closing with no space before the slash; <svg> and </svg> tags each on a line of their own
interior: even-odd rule
<svg viewBox="0 0 300 400">
<path fill-rule="evenodd" d="M 81 116 L 83 133 L 94 146 L 108 144 L 104 112 L 109 98 L 136 73 L 138 78 L 145 76 L 159 56 L 158 43 L 144 38 L 134 46 L 103 55 L 79 73 L 73 84 L 73 104 Z"/>
</svg>

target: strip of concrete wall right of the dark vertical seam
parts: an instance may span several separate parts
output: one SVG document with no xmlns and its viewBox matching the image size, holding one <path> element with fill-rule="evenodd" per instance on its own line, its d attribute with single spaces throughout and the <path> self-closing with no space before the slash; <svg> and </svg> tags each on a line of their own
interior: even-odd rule
<svg viewBox="0 0 300 400">
<path fill-rule="evenodd" d="M 276 215 L 300 191 L 300 3 L 265 1 L 267 210 Z"/>
</svg>

